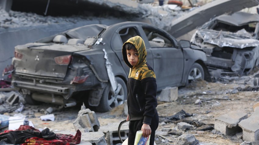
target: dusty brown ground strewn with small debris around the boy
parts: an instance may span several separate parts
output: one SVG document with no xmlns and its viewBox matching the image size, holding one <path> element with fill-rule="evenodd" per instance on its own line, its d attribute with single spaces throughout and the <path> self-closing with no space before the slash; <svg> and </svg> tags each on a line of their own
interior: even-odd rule
<svg viewBox="0 0 259 145">
<path fill-rule="evenodd" d="M 251 76 L 245 77 L 249 80 Z M 211 130 L 197 131 L 181 130 L 178 128 L 177 121 L 171 121 L 171 123 L 165 121 L 167 116 L 172 116 L 175 113 L 184 110 L 186 113 L 193 113 L 193 116 L 186 117 L 181 120 L 186 122 L 199 121 L 205 124 L 214 124 L 215 117 L 228 113 L 232 110 L 243 110 L 248 113 L 248 116 L 253 113 L 253 104 L 259 100 L 259 92 L 247 91 L 247 92 L 235 92 L 237 87 L 246 87 L 249 83 L 247 81 L 240 81 L 242 78 L 236 78 L 236 81 L 230 81 L 229 83 L 208 83 L 206 81 L 197 81 L 191 83 L 189 86 L 181 87 L 178 90 L 178 99 L 176 102 L 158 102 L 157 110 L 160 116 L 160 124 L 156 131 L 156 144 L 166 145 L 175 144 L 177 135 L 170 135 L 168 131 L 176 130 L 179 133 L 191 133 L 195 135 L 199 142 L 216 143 L 218 145 L 236 145 L 242 143 L 242 140 L 235 140 L 232 137 L 224 135 L 214 134 Z M 232 93 L 231 93 L 232 92 Z M 159 93 L 158 93 L 159 95 Z M 200 99 L 200 103 L 196 103 L 196 100 Z M 44 129 L 48 127 L 52 131 L 73 131 L 73 121 L 77 117 L 77 113 L 80 110 L 80 106 L 73 108 L 62 108 L 54 111 L 55 121 L 41 121 L 39 117 L 44 114 L 44 110 L 48 107 L 58 107 L 52 104 L 41 104 L 39 106 L 25 106 L 25 110 L 22 112 L 29 117 L 29 121 L 34 123 L 35 128 Z M 108 113 L 96 113 L 101 126 L 109 123 L 121 122 L 126 119 L 124 115 L 124 106 L 120 105 Z M 5 113 L 5 115 L 14 115 L 15 113 Z M 70 120 L 67 118 L 70 117 Z M 74 119 L 71 119 L 74 118 Z M 65 121 L 62 121 L 65 120 Z M 179 121 L 178 121 L 179 122 Z M 195 128 L 195 127 L 194 127 Z M 3 130 L 2 130 L 3 131 Z"/>
</svg>

